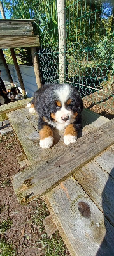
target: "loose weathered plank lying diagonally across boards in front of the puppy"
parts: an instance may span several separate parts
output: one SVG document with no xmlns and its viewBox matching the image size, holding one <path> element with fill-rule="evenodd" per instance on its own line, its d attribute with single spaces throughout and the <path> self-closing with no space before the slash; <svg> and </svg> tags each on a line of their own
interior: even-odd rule
<svg viewBox="0 0 114 256">
<path fill-rule="evenodd" d="M 34 164 L 24 172 L 13 177 L 13 188 L 18 198 L 34 198 L 47 193 L 61 180 L 66 179 L 91 159 L 103 152 L 114 142 L 114 120 L 101 125 L 93 132 L 79 138 L 73 145 L 68 145 L 42 165 Z M 48 150 L 46 150 L 48 152 Z M 27 180 L 31 180 L 27 185 Z M 31 194 L 32 193 L 32 194 Z"/>
</svg>

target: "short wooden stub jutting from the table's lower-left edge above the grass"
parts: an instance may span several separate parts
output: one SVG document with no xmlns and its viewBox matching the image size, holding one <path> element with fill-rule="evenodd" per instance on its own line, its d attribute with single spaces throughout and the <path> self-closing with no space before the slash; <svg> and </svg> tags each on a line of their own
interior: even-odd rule
<svg viewBox="0 0 114 256">
<path fill-rule="evenodd" d="M 53 222 L 53 218 L 51 215 L 47 216 L 45 220 L 43 220 L 43 224 L 45 225 L 45 230 L 48 236 L 52 236 L 52 234 L 57 231 L 57 227 Z"/>
</svg>

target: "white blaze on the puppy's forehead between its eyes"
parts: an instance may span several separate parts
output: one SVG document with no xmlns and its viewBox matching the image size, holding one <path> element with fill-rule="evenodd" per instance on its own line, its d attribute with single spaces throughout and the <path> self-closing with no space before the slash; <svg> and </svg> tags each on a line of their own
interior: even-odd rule
<svg viewBox="0 0 114 256">
<path fill-rule="evenodd" d="M 66 102 L 66 100 L 69 99 L 70 89 L 68 84 L 64 84 L 60 88 L 56 89 L 55 93 L 57 93 L 57 96 L 59 97 L 59 100 L 63 105 Z"/>
</svg>

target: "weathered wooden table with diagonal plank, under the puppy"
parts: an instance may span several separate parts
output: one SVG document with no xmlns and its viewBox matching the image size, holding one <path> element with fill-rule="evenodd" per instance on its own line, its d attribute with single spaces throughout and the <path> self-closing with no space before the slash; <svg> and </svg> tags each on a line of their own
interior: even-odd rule
<svg viewBox="0 0 114 256">
<path fill-rule="evenodd" d="M 45 200 L 46 230 L 58 229 L 72 256 L 113 256 L 114 120 L 83 109 L 77 142 L 66 146 L 55 131 L 53 147 L 45 150 L 37 114 L 21 108 L 6 115 L 29 163 L 13 177 L 18 200 Z"/>
</svg>

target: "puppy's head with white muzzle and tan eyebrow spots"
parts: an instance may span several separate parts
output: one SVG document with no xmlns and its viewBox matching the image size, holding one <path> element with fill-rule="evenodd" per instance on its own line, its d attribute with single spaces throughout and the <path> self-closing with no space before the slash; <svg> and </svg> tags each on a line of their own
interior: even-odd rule
<svg viewBox="0 0 114 256">
<path fill-rule="evenodd" d="M 80 94 L 73 86 L 63 84 L 55 88 L 53 95 L 52 120 L 65 126 L 73 123 L 80 115 L 83 104 Z"/>
</svg>

